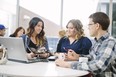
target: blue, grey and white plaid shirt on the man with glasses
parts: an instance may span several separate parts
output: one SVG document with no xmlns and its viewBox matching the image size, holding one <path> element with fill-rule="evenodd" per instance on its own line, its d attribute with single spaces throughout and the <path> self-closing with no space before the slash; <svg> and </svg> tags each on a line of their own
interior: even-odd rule
<svg viewBox="0 0 116 77">
<path fill-rule="evenodd" d="M 71 68 L 90 71 L 94 77 L 116 77 L 116 40 L 108 33 L 95 40 L 90 54 L 84 57 L 88 57 L 87 63 L 75 62 Z"/>
</svg>

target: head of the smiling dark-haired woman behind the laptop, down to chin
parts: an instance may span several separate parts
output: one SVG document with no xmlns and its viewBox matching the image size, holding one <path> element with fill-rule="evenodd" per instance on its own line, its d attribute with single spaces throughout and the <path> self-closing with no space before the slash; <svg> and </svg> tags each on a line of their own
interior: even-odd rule
<svg viewBox="0 0 116 77">
<path fill-rule="evenodd" d="M 27 28 L 27 35 L 29 37 L 43 37 L 45 35 L 43 20 L 38 17 L 32 18 L 29 22 L 29 27 Z"/>
</svg>

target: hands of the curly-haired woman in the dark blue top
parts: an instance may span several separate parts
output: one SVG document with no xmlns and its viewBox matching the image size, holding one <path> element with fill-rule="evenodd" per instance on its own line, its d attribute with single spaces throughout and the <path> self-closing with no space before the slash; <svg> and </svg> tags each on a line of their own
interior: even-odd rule
<svg viewBox="0 0 116 77">
<path fill-rule="evenodd" d="M 65 60 L 77 61 L 79 59 L 79 54 L 75 53 L 74 50 L 69 49 L 68 53 L 65 55 Z"/>
</svg>

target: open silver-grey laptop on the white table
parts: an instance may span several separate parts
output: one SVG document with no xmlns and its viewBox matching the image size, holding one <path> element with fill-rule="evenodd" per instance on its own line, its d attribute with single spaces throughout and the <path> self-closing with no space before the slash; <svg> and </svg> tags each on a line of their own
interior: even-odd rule
<svg viewBox="0 0 116 77">
<path fill-rule="evenodd" d="M 48 62 L 48 59 L 40 59 L 40 58 L 28 59 L 22 38 L 0 37 L 0 43 L 7 48 L 8 60 L 10 61 L 22 63 Z"/>
</svg>

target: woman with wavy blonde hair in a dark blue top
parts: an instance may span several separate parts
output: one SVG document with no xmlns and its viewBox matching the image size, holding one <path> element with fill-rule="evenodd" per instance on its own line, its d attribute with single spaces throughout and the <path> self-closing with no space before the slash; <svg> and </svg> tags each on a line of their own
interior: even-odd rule
<svg viewBox="0 0 116 77">
<path fill-rule="evenodd" d="M 66 36 L 59 40 L 56 52 L 66 53 L 65 60 L 78 60 L 79 56 L 77 54 L 89 54 L 92 43 L 89 38 L 84 36 L 81 21 L 72 19 L 68 22 L 66 28 Z"/>
</svg>

